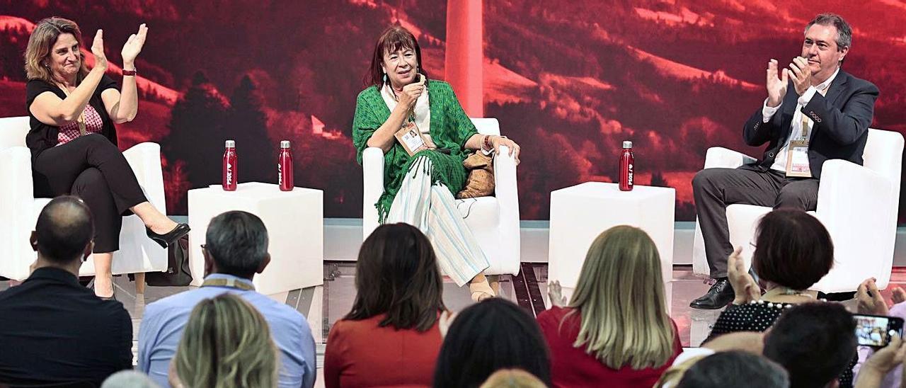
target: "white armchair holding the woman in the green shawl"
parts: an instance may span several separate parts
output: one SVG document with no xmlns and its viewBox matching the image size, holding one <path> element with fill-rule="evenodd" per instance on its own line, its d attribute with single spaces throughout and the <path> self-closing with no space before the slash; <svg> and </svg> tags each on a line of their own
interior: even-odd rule
<svg viewBox="0 0 906 388">
<path fill-rule="evenodd" d="M 472 119 L 478 133 L 500 135 L 496 119 Z M 457 199 L 466 224 L 485 251 L 490 267 L 487 275 L 519 273 L 519 198 L 516 191 L 516 160 L 506 155 L 506 148 L 494 158 L 494 197 Z M 362 238 L 378 228 L 378 211 L 374 203 L 384 192 L 384 154 L 371 147 L 362 153 L 364 199 L 362 203 Z"/>
</svg>

